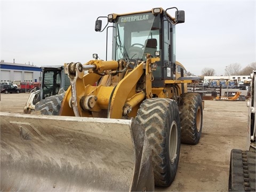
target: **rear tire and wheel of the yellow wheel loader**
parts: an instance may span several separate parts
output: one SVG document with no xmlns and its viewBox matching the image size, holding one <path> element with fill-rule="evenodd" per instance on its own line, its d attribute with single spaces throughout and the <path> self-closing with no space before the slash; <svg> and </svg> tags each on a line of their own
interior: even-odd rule
<svg viewBox="0 0 256 192">
<path fill-rule="evenodd" d="M 185 93 L 180 99 L 181 142 L 196 145 L 202 133 L 203 107 L 198 93 Z"/>
</svg>

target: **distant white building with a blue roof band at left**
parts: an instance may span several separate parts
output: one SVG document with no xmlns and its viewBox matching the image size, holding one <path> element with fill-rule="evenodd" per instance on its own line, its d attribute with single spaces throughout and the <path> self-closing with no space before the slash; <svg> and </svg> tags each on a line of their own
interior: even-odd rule
<svg viewBox="0 0 256 192">
<path fill-rule="evenodd" d="M 39 82 L 41 68 L 33 65 L 20 63 L 0 62 L 0 81 L 13 82 L 20 80 L 21 82 Z"/>
</svg>

